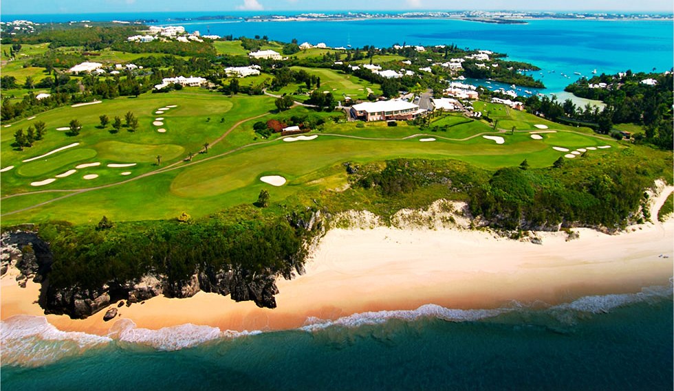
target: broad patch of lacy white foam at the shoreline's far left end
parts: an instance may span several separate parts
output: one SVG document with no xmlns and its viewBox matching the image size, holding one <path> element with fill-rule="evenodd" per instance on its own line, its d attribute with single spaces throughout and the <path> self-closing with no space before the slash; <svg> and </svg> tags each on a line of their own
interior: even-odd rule
<svg viewBox="0 0 674 391">
<path fill-rule="evenodd" d="M 109 337 L 58 330 L 43 316 L 16 315 L 0 322 L 2 364 L 42 366 L 83 350 L 104 346 Z"/>
</svg>

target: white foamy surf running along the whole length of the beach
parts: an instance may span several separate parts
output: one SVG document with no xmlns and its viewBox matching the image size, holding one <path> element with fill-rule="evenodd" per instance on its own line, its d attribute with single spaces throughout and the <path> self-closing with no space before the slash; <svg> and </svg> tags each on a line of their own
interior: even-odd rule
<svg viewBox="0 0 674 391">
<path fill-rule="evenodd" d="M 331 329 L 353 329 L 377 326 L 390 320 L 414 322 L 417 320 L 444 320 L 446 322 L 528 322 L 530 315 L 541 315 L 561 325 L 574 325 L 592 315 L 609 313 L 613 309 L 637 303 L 657 303 L 671 300 L 673 282 L 666 287 L 646 287 L 638 293 L 594 295 L 573 302 L 550 306 L 545 303 L 522 304 L 512 302 L 499 309 L 448 309 L 436 304 L 425 304 L 409 311 L 376 311 L 356 313 L 336 320 L 309 317 L 297 331 L 321 333 Z M 183 324 L 150 330 L 138 328 L 129 319 L 118 320 L 107 336 L 60 331 L 45 317 L 17 315 L 0 322 L 2 365 L 43 366 L 66 357 L 82 355 L 87 350 L 104 347 L 121 349 L 149 348 L 153 350 L 180 350 L 208 343 L 225 342 L 263 333 L 263 331 L 221 331 L 217 327 Z"/>
</svg>

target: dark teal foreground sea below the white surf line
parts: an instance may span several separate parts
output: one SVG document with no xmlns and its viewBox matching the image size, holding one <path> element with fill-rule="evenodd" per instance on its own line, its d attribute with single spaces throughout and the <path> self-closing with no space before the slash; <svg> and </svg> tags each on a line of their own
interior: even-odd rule
<svg viewBox="0 0 674 391">
<path fill-rule="evenodd" d="M 173 351 L 114 341 L 37 368 L 5 365 L 0 379 L 7 390 L 671 390 L 667 289 L 614 308 L 607 303 L 635 295 L 461 322 L 395 318 L 218 338 Z M 585 308 L 597 300 L 608 313 Z M 41 342 L 43 351 L 53 343 Z"/>
</svg>

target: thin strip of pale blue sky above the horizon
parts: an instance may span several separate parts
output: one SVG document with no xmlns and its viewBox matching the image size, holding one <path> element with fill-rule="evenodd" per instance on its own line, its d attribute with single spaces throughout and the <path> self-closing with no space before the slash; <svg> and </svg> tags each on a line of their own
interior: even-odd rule
<svg viewBox="0 0 674 391">
<path fill-rule="evenodd" d="M 349 10 L 673 12 L 672 0 L 3 0 L 2 14 Z"/>
</svg>

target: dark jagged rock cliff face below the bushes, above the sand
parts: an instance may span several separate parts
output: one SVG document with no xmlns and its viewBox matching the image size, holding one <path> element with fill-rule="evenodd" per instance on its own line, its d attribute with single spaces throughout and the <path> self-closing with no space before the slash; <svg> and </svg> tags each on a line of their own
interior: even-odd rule
<svg viewBox="0 0 674 391">
<path fill-rule="evenodd" d="M 312 245 L 316 236 L 325 234 L 323 216 L 320 212 L 311 212 L 305 218 L 292 216 L 291 224 L 303 230 L 309 238 L 307 246 Z M 203 262 L 188 278 L 171 280 L 157 273 L 146 273 L 135 280 L 109 280 L 95 289 L 79 286 L 55 287 L 50 284 L 50 271 L 54 262 L 54 254 L 49 243 L 43 241 L 37 232 L 15 231 L 3 233 L 1 238 L 1 272 L 9 267 L 17 267 L 20 271 L 17 280 L 25 287 L 25 281 L 32 278 L 41 283 L 39 304 L 45 313 L 69 315 L 83 319 L 105 309 L 111 303 L 124 300 L 127 305 L 143 302 L 157 295 L 168 298 L 190 298 L 199 291 L 230 295 L 237 302 L 252 301 L 259 307 L 276 308 L 274 295 L 279 293 L 276 287 L 277 272 L 264 269 L 262 273 L 251 272 L 241 267 L 225 265 L 213 267 Z M 304 254 L 304 253 L 303 253 Z M 294 270 L 303 273 L 303 254 L 298 259 L 291 259 Z M 290 279 L 293 272 L 281 273 Z M 122 305 L 122 304 L 120 304 Z"/>
</svg>

